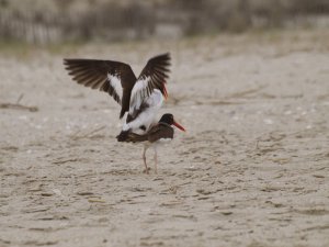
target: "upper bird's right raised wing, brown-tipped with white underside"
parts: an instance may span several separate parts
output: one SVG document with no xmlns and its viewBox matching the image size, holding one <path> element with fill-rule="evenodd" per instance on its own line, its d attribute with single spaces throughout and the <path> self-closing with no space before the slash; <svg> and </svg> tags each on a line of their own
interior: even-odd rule
<svg viewBox="0 0 329 247">
<path fill-rule="evenodd" d="M 159 89 L 167 97 L 166 79 L 168 78 L 170 66 L 170 54 L 162 54 L 149 59 L 141 70 L 131 96 L 129 114 L 140 109 L 143 102 L 154 92 Z"/>
</svg>

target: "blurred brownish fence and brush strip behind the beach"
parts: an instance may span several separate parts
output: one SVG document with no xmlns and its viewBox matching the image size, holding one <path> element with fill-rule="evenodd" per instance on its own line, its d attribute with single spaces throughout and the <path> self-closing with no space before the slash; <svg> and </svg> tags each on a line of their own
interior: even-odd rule
<svg viewBox="0 0 329 247">
<path fill-rule="evenodd" d="M 0 0 L 0 42 L 35 45 L 328 29 L 328 0 Z"/>
</svg>

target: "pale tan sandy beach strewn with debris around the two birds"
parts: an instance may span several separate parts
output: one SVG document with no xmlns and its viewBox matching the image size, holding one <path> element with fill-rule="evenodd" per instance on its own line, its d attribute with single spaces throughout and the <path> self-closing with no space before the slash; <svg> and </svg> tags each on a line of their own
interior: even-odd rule
<svg viewBox="0 0 329 247">
<path fill-rule="evenodd" d="M 328 32 L 0 54 L 0 246 L 329 246 Z M 120 108 L 63 57 L 172 54 L 188 130 L 143 173 Z M 16 105 L 19 104 L 19 105 Z M 147 153 L 152 168 L 152 150 Z"/>
</svg>

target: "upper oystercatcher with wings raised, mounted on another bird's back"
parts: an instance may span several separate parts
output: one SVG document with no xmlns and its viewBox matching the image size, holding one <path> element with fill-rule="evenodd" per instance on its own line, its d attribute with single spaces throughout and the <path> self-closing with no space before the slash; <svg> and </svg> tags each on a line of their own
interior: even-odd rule
<svg viewBox="0 0 329 247">
<path fill-rule="evenodd" d="M 138 78 L 129 65 L 114 60 L 64 59 L 66 69 L 80 85 L 107 92 L 121 104 L 120 119 L 124 136 L 129 132 L 145 134 L 154 123 L 163 97 L 170 66 L 169 53 L 150 58 Z"/>
</svg>

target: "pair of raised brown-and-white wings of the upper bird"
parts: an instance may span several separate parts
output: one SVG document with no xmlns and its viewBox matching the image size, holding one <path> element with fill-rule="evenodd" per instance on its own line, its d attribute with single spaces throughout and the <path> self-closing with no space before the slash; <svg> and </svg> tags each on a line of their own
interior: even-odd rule
<svg viewBox="0 0 329 247">
<path fill-rule="evenodd" d="M 155 89 L 159 89 L 167 97 L 164 83 L 170 66 L 169 54 L 149 59 L 138 78 L 129 65 L 121 61 L 64 59 L 64 64 L 75 81 L 92 89 L 100 89 L 113 97 L 122 105 L 120 119 L 129 111 L 131 104 L 136 103 L 138 97 L 145 99 Z M 117 78 L 120 85 L 113 77 Z M 134 89 L 135 85 L 137 87 Z"/>
</svg>

